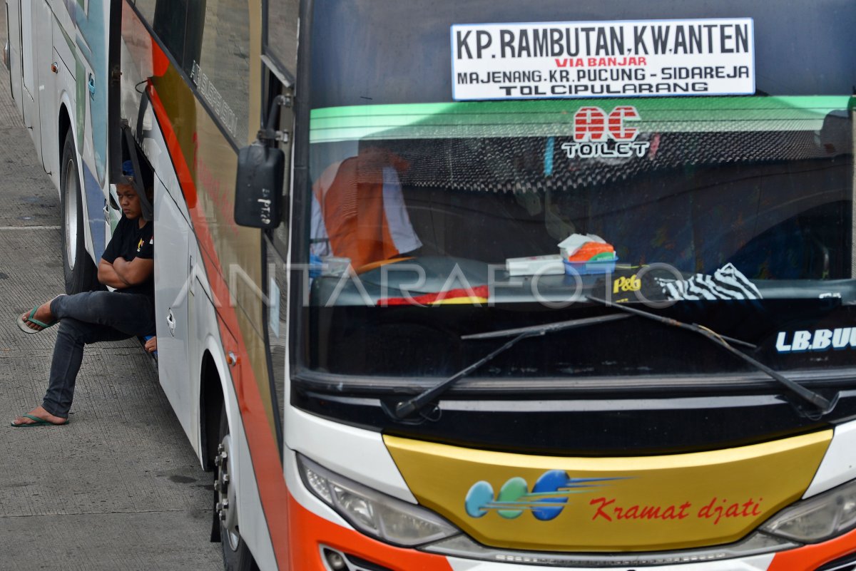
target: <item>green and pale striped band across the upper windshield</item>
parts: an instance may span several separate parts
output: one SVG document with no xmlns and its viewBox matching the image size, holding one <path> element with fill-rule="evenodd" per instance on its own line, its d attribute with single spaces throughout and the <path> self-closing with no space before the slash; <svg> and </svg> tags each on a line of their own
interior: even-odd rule
<svg viewBox="0 0 856 571">
<path fill-rule="evenodd" d="M 811 131 L 850 96 L 651 97 L 354 105 L 312 109 L 311 143 L 357 139 L 568 136 L 574 113 L 633 105 L 644 132 Z"/>
</svg>

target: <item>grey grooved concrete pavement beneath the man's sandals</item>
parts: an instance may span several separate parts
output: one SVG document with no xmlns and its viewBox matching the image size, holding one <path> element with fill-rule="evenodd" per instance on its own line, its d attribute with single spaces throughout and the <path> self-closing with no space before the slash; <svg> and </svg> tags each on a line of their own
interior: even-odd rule
<svg viewBox="0 0 856 571">
<path fill-rule="evenodd" d="M 139 344 L 87 348 L 68 426 L 8 426 L 45 391 L 56 329 L 24 335 L 15 315 L 62 291 L 59 224 L 0 66 L 0 570 L 222 568 L 213 476 Z"/>
</svg>

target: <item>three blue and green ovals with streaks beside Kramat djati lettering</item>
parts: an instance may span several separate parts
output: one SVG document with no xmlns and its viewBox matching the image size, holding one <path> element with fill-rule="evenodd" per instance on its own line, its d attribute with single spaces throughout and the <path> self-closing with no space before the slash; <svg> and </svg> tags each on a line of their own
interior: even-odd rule
<svg viewBox="0 0 856 571">
<path fill-rule="evenodd" d="M 496 509 L 507 520 L 530 511 L 536 519 L 550 521 L 562 513 L 572 494 L 591 492 L 612 480 L 627 478 L 569 478 L 564 470 L 549 470 L 535 480 L 532 492 L 526 480 L 516 477 L 505 482 L 496 496 L 493 486 L 481 480 L 470 487 L 464 507 L 470 517 L 482 517 Z"/>
</svg>

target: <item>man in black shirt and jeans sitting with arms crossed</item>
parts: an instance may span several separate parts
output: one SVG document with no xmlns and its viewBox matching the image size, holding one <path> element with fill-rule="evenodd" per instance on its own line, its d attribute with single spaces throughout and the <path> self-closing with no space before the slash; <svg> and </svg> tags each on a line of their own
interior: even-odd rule
<svg viewBox="0 0 856 571">
<path fill-rule="evenodd" d="M 122 170 L 134 175 L 128 162 Z M 24 333 L 38 333 L 57 322 L 60 326 L 45 398 L 40 406 L 12 421 L 13 427 L 68 423 L 85 344 L 155 334 L 154 224 L 144 220 L 133 185 L 116 185 L 116 195 L 122 219 L 98 263 L 98 281 L 116 291 L 63 294 L 18 317 Z M 146 195 L 151 203 L 151 188 L 146 188 Z M 157 341 L 146 344 L 146 350 L 157 350 Z"/>
</svg>

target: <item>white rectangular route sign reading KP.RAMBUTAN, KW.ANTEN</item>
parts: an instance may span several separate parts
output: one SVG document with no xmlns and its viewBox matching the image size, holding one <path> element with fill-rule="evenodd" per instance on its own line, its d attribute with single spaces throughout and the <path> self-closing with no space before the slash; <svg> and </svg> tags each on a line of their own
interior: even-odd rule
<svg viewBox="0 0 856 571">
<path fill-rule="evenodd" d="M 455 24 L 458 101 L 751 95 L 752 18 Z"/>
</svg>

